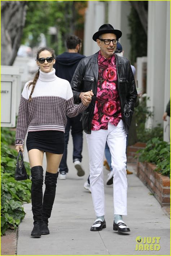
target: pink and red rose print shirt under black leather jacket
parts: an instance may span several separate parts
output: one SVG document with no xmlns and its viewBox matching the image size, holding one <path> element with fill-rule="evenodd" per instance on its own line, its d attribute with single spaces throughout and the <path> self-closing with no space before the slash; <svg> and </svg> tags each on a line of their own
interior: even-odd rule
<svg viewBox="0 0 171 256">
<path fill-rule="evenodd" d="M 110 59 L 105 59 L 99 51 L 97 98 L 92 130 L 107 130 L 108 122 L 117 126 L 121 118 L 115 55 L 112 55 Z"/>
</svg>

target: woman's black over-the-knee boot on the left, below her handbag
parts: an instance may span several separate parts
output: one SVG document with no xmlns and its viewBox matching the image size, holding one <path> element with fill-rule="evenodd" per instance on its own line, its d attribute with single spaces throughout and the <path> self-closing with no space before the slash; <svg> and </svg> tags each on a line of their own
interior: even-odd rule
<svg viewBox="0 0 171 256">
<path fill-rule="evenodd" d="M 43 203 L 43 167 L 34 166 L 31 168 L 31 203 L 34 219 L 34 228 L 31 236 L 41 236 L 42 203 Z"/>
</svg>

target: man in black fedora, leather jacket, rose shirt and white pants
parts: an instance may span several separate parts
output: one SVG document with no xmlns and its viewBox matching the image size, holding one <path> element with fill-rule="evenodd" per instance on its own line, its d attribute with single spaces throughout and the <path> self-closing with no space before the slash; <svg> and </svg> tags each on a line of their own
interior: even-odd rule
<svg viewBox="0 0 171 256">
<path fill-rule="evenodd" d="M 102 25 L 93 35 L 100 51 L 80 61 L 71 81 L 75 103 L 89 104 L 82 112 L 82 124 L 88 144 L 90 187 L 96 213 L 91 231 L 106 227 L 103 181 L 106 141 L 114 173 L 113 230 L 130 231 L 122 215 L 127 215 L 126 137 L 137 91 L 130 62 L 114 54 L 121 36 L 122 32 L 110 24 Z"/>
</svg>

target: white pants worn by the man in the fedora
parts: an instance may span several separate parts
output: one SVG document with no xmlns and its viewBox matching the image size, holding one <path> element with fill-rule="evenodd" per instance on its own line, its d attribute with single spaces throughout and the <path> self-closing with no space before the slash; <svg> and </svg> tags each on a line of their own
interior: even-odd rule
<svg viewBox="0 0 171 256">
<path fill-rule="evenodd" d="M 106 141 L 111 153 L 111 167 L 114 174 L 114 214 L 127 215 L 126 137 L 122 120 L 117 126 L 108 123 L 108 130 L 101 129 L 86 134 L 89 153 L 89 179 L 97 217 L 105 215 L 103 155 Z"/>
</svg>

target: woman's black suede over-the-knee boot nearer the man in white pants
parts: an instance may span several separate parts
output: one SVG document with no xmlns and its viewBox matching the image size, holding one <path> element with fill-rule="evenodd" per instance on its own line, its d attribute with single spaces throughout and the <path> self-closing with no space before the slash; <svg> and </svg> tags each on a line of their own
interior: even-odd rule
<svg viewBox="0 0 171 256">
<path fill-rule="evenodd" d="M 45 175 L 45 192 L 43 196 L 43 211 L 42 211 L 42 227 L 41 227 L 41 234 L 42 235 L 48 235 L 49 229 L 48 229 L 48 218 L 51 217 L 53 202 L 55 198 L 56 193 L 56 183 L 58 178 L 57 173 L 50 173 L 46 172 Z"/>
</svg>

